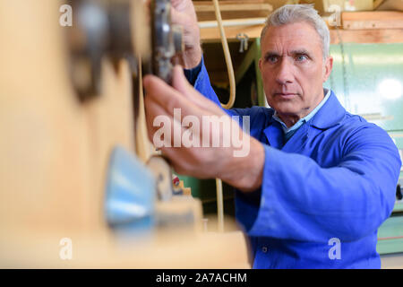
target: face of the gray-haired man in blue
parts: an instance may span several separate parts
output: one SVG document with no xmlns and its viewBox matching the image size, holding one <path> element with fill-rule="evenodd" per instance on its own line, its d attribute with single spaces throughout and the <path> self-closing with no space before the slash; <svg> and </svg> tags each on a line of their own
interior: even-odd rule
<svg viewBox="0 0 403 287">
<path fill-rule="evenodd" d="M 308 22 L 269 27 L 259 61 L 263 88 L 279 116 L 301 118 L 323 99 L 332 58 L 323 61 L 322 40 Z"/>
</svg>

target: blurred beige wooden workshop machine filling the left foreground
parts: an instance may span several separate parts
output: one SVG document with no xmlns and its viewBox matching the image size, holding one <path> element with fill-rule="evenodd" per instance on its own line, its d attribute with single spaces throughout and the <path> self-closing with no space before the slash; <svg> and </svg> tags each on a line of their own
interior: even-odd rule
<svg viewBox="0 0 403 287">
<path fill-rule="evenodd" d="M 0 267 L 250 267 L 147 140 L 141 75 L 170 83 L 182 48 L 169 17 L 167 0 L 0 2 Z"/>
</svg>

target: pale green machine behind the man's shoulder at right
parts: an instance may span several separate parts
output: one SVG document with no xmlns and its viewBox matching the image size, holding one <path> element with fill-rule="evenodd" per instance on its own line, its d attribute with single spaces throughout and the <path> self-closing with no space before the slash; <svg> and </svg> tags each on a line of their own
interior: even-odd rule
<svg viewBox="0 0 403 287">
<path fill-rule="evenodd" d="M 331 77 L 325 87 L 335 91 L 349 112 L 388 132 L 403 159 L 403 44 L 332 45 Z M 403 170 L 399 185 L 403 186 Z M 380 254 L 403 252 L 403 200 L 397 189 L 393 212 L 378 231 Z"/>
</svg>

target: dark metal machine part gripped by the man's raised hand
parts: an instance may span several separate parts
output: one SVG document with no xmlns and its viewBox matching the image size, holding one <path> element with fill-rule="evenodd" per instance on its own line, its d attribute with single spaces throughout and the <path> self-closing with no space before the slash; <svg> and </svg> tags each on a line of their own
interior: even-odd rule
<svg viewBox="0 0 403 287">
<path fill-rule="evenodd" d="M 171 83 L 171 60 L 183 51 L 182 29 L 171 23 L 170 0 L 151 1 L 150 11 L 152 74 Z"/>
</svg>

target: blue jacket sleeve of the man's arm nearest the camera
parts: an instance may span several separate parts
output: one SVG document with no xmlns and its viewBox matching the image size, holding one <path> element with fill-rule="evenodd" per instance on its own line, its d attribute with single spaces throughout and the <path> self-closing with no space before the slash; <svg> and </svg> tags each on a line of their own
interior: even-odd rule
<svg viewBox="0 0 403 287">
<path fill-rule="evenodd" d="M 350 241 L 373 233 L 390 216 L 401 161 L 382 128 L 356 131 L 331 168 L 269 145 L 264 150 L 262 195 L 249 235 Z"/>
</svg>

